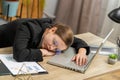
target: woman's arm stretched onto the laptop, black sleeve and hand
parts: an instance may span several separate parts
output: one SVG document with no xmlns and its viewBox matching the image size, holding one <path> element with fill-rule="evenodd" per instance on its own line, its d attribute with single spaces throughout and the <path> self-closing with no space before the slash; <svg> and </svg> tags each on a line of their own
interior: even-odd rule
<svg viewBox="0 0 120 80">
<path fill-rule="evenodd" d="M 76 50 L 76 55 L 72 58 L 72 61 L 75 61 L 77 65 L 85 65 L 87 62 L 87 55 L 90 52 L 89 46 L 85 41 L 79 38 L 74 38 L 72 47 Z"/>
</svg>

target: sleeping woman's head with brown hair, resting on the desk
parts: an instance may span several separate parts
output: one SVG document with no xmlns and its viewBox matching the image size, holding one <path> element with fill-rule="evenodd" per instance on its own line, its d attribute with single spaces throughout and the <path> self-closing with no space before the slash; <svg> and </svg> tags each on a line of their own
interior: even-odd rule
<svg viewBox="0 0 120 80">
<path fill-rule="evenodd" d="M 65 24 L 54 24 L 46 29 L 42 46 L 48 50 L 56 49 L 65 50 L 73 42 L 73 32 L 71 28 Z"/>
</svg>

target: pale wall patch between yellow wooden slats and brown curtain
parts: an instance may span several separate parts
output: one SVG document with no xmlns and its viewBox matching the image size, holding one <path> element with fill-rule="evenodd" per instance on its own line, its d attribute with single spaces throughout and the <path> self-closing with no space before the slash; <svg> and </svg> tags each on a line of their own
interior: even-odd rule
<svg viewBox="0 0 120 80">
<path fill-rule="evenodd" d="M 54 16 L 58 0 L 46 0 L 44 11 Z"/>
</svg>

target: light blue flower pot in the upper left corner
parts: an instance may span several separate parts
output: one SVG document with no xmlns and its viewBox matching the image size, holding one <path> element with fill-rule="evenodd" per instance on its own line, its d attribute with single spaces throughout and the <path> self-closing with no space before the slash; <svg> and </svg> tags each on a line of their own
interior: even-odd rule
<svg viewBox="0 0 120 80">
<path fill-rule="evenodd" d="M 3 0 L 3 2 L 2 2 L 2 15 L 5 15 L 8 17 L 16 16 L 17 10 L 18 10 L 18 4 L 19 4 L 19 1 Z"/>
</svg>

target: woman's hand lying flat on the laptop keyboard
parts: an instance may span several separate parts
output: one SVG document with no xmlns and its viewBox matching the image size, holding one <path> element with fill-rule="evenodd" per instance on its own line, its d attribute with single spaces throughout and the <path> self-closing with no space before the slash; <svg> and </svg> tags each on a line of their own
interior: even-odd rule
<svg viewBox="0 0 120 80">
<path fill-rule="evenodd" d="M 75 61 L 77 65 L 85 65 L 87 62 L 87 55 L 86 55 L 86 49 L 85 48 L 80 48 L 78 51 L 78 54 L 76 54 L 73 58 L 72 61 Z"/>
</svg>

